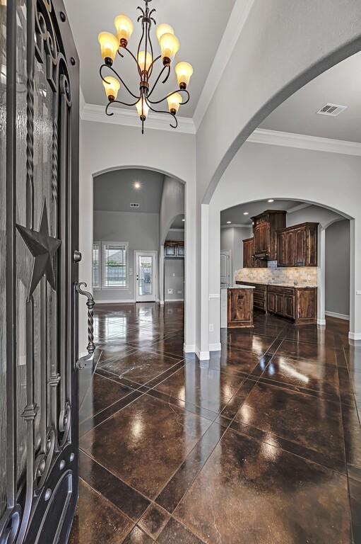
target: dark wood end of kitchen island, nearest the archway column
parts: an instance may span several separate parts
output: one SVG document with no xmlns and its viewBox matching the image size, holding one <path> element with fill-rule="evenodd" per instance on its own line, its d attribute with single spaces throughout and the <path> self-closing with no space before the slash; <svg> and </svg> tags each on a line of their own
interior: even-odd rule
<svg viewBox="0 0 361 544">
<path fill-rule="evenodd" d="M 253 326 L 253 289 L 227 290 L 227 327 Z"/>
</svg>

